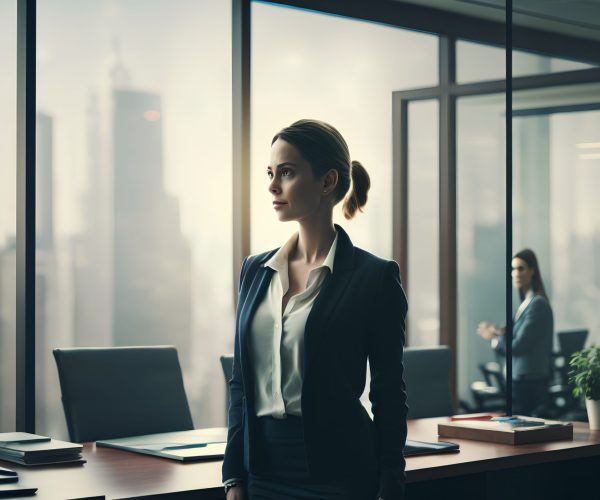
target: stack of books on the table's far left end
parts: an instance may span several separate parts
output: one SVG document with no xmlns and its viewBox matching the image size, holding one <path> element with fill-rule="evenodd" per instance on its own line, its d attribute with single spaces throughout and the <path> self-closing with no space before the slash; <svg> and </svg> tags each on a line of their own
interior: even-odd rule
<svg viewBox="0 0 600 500">
<path fill-rule="evenodd" d="M 85 463 L 83 446 L 27 432 L 0 433 L 0 460 L 20 465 Z"/>
</svg>

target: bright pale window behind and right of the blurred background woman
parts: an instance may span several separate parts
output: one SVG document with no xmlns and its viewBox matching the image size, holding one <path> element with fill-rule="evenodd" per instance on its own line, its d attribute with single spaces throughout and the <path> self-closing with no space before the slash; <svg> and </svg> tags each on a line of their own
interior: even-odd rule
<svg viewBox="0 0 600 500">
<path fill-rule="evenodd" d="M 560 94 L 592 97 L 578 86 Z M 515 249 L 537 254 L 555 332 L 586 328 L 588 343 L 598 344 L 600 111 L 533 108 L 513 127 Z"/>
</svg>

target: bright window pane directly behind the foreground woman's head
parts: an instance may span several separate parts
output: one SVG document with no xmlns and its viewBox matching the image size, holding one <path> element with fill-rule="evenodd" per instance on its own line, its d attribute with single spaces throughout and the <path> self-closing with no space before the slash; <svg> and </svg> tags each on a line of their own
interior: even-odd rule
<svg viewBox="0 0 600 500">
<path fill-rule="evenodd" d="M 300 118 L 330 122 L 371 176 L 350 222 L 355 245 L 392 257 L 392 92 L 437 84 L 435 36 L 306 10 L 252 4 L 252 252 L 284 243 L 296 224 L 273 214 L 265 174 L 271 139 Z"/>
</svg>

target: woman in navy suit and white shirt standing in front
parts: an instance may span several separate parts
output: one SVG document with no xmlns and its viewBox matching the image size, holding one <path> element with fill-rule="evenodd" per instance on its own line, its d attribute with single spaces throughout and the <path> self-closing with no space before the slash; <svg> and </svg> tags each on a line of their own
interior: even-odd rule
<svg viewBox="0 0 600 500">
<path fill-rule="evenodd" d="M 298 232 L 245 259 L 236 312 L 227 500 L 401 500 L 407 301 L 398 265 L 333 223 L 365 205 L 369 175 L 331 125 L 275 135 L 268 190 Z M 359 398 L 371 369 L 373 419 Z"/>
</svg>

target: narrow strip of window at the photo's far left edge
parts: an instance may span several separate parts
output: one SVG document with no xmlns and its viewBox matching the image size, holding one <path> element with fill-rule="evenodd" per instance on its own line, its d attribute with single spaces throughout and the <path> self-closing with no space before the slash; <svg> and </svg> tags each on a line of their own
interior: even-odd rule
<svg viewBox="0 0 600 500">
<path fill-rule="evenodd" d="M 17 2 L 0 0 L 0 429 L 15 429 Z"/>
</svg>

